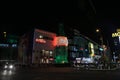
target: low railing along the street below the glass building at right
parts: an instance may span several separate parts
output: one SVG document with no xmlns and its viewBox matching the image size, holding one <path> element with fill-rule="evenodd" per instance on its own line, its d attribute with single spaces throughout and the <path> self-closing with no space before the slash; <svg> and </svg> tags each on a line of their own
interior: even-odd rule
<svg viewBox="0 0 120 80">
<path fill-rule="evenodd" d="M 120 63 L 75 63 L 72 67 L 87 70 L 116 70 L 120 68 Z"/>
</svg>

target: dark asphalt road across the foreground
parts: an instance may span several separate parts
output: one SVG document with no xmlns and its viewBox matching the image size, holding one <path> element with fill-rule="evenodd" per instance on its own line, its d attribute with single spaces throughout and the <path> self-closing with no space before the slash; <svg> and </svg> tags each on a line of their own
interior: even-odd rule
<svg viewBox="0 0 120 80">
<path fill-rule="evenodd" d="M 0 80 L 120 80 L 120 70 L 78 70 L 68 67 L 18 68 L 0 71 Z"/>
</svg>

